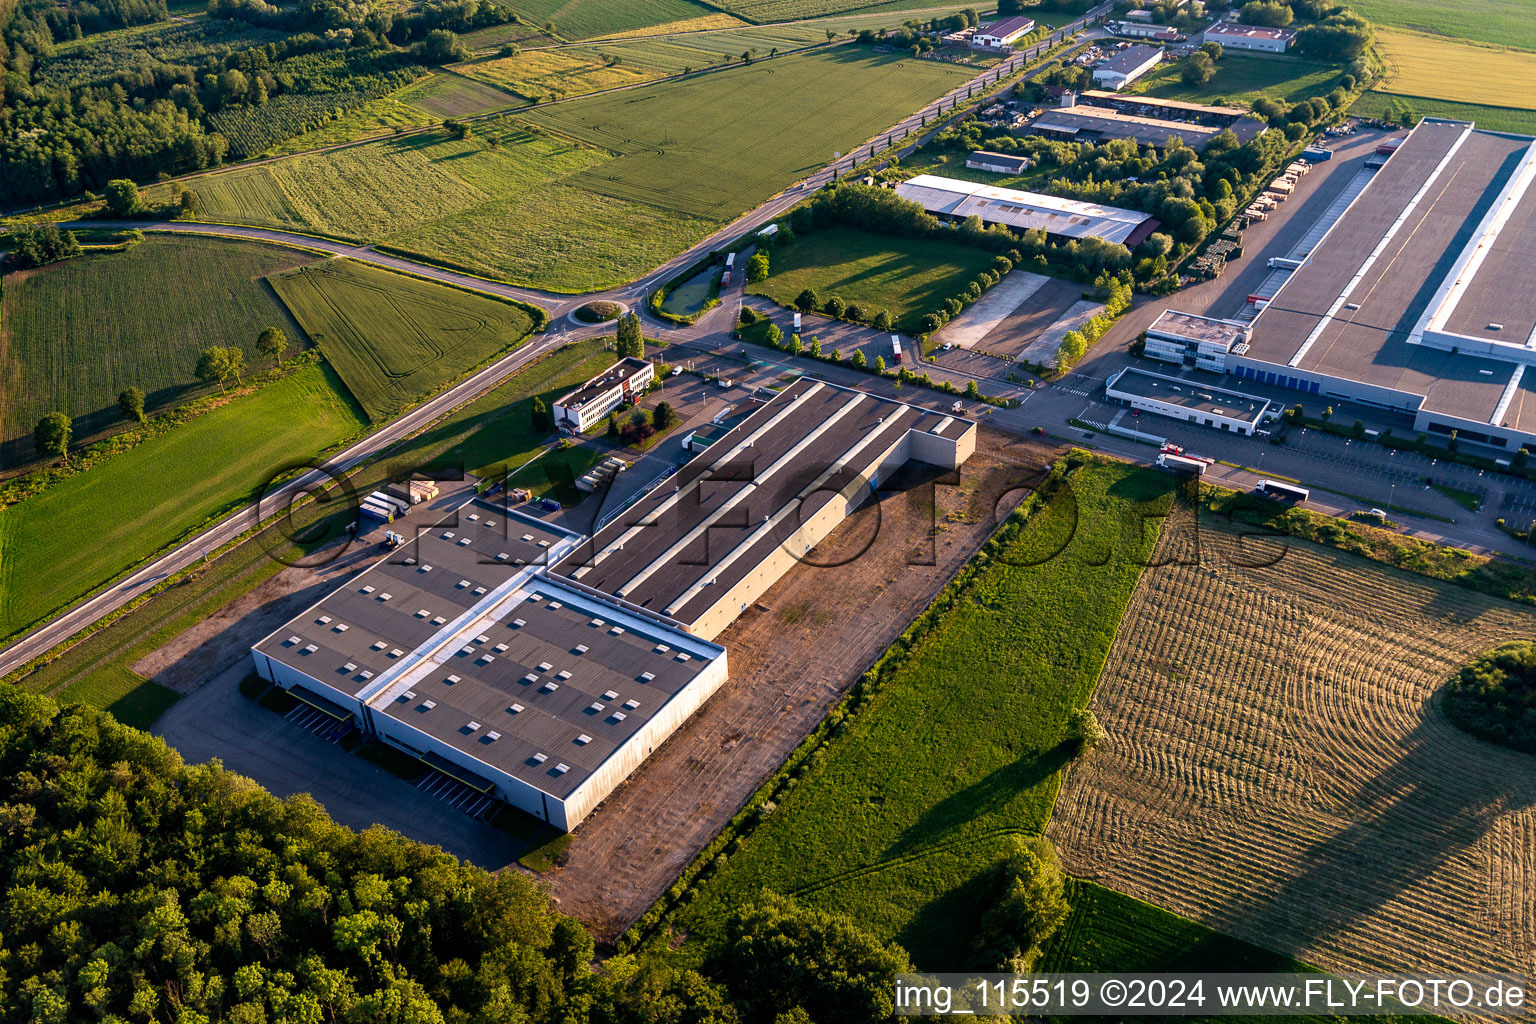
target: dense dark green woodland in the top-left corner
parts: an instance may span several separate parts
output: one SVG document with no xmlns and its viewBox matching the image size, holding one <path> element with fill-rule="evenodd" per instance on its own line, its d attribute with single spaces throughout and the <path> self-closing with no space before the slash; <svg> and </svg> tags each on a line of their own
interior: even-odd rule
<svg viewBox="0 0 1536 1024">
<path fill-rule="evenodd" d="M 495 0 L 410 14 L 210 0 L 190 21 L 169 21 L 164 0 L 0 3 L 0 197 L 40 203 L 257 155 L 455 60 L 455 32 L 515 17 Z M 91 38 L 135 26 L 149 28 Z"/>
</svg>

